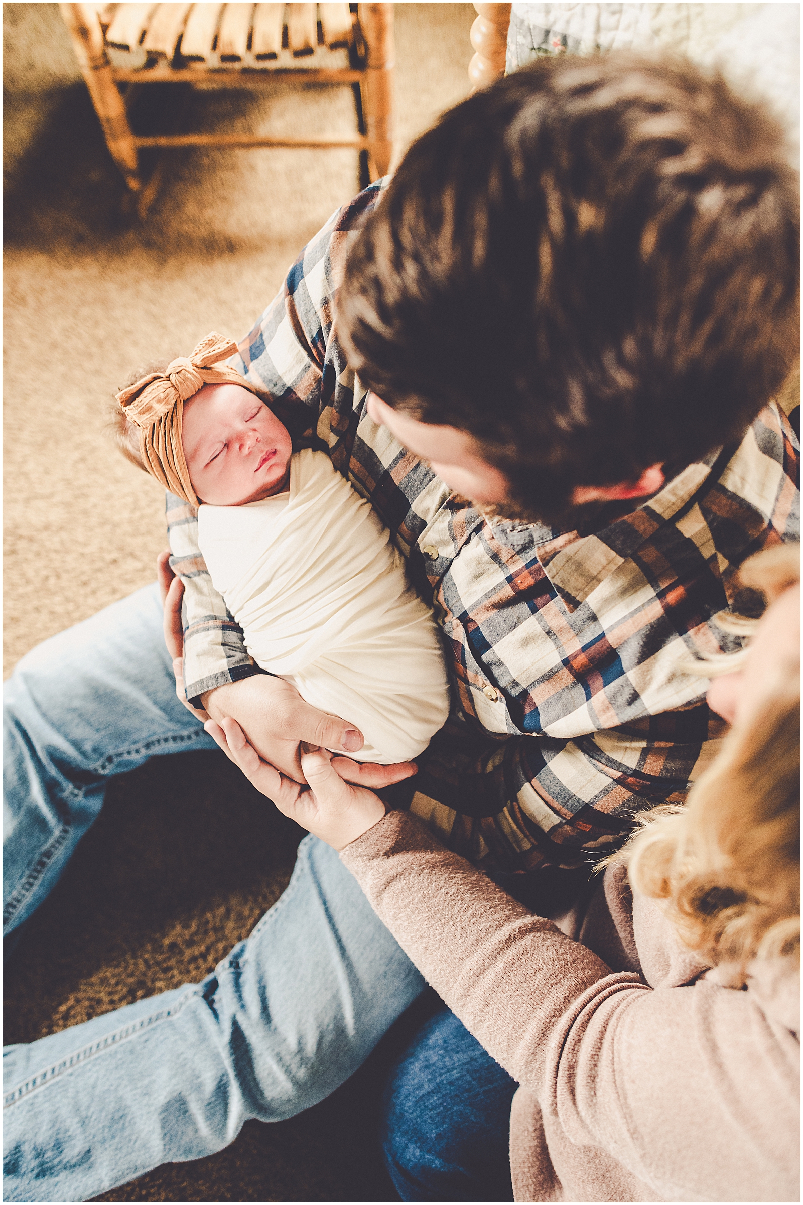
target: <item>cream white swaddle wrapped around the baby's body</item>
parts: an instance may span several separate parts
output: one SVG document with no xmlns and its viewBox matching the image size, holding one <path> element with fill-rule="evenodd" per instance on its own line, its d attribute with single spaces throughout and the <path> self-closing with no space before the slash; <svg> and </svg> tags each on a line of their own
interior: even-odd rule
<svg viewBox="0 0 803 1205">
<path fill-rule="evenodd" d="M 263 669 L 354 724 L 361 762 L 406 762 L 449 715 L 432 611 L 369 502 L 324 452 L 291 459 L 289 494 L 198 512 L 215 588 Z"/>
</svg>

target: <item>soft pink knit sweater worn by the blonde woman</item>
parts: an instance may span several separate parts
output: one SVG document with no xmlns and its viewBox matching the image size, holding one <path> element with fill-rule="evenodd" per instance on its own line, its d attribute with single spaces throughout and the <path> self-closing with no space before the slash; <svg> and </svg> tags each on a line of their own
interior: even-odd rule
<svg viewBox="0 0 803 1205">
<path fill-rule="evenodd" d="M 341 853 L 449 1007 L 518 1081 L 517 1201 L 799 1200 L 799 972 L 722 986 L 609 870 L 578 934 L 391 812 Z"/>
</svg>

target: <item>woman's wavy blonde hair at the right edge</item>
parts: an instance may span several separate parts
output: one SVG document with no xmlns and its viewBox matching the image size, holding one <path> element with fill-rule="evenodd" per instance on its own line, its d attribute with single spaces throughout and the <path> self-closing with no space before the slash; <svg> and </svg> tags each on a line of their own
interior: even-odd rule
<svg viewBox="0 0 803 1205">
<path fill-rule="evenodd" d="M 801 577 L 799 548 L 757 553 L 742 581 L 773 601 Z M 756 619 L 723 617 L 750 635 Z M 738 670 L 746 651 L 699 665 L 707 677 Z M 666 901 L 681 941 L 710 962 L 740 968 L 801 950 L 801 687 L 779 675 L 758 715 L 737 722 L 685 806 L 661 805 L 609 862 L 627 863 L 644 895 Z"/>
</svg>

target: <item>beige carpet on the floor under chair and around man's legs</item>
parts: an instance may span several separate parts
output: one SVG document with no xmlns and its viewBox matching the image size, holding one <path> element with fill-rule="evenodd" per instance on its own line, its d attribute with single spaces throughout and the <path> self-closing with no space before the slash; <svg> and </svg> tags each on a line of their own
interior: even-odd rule
<svg viewBox="0 0 803 1205">
<path fill-rule="evenodd" d="M 475 13 L 395 13 L 409 142 L 465 94 Z M 165 543 L 159 489 L 107 442 L 105 399 L 131 364 L 183 353 L 213 328 L 242 335 L 358 176 L 350 151 L 176 152 L 147 223 L 127 229 L 58 6 L 5 4 L 2 16 L 7 675 L 40 640 L 151 581 Z M 354 122 L 348 89 L 193 106 L 187 129 Z M 7 970 L 5 1040 L 203 977 L 279 897 L 298 837 L 213 753 L 160 758 L 119 781 Z M 382 1058 L 303 1117 L 248 1123 L 219 1156 L 105 1199 L 394 1199 L 373 1130 Z"/>
</svg>

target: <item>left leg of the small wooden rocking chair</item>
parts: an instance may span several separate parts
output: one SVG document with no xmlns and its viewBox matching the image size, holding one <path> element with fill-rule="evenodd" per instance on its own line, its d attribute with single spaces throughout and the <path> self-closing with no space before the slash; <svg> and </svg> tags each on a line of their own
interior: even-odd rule
<svg viewBox="0 0 803 1205">
<path fill-rule="evenodd" d="M 94 6 L 88 4 L 59 4 L 59 8 L 70 30 L 72 46 L 92 102 L 95 106 L 106 146 L 129 189 L 133 193 L 139 193 L 142 188 L 142 177 L 140 176 L 136 143 L 128 124 L 125 104 L 115 83 L 111 64 L 106 57 L 98 13 Z"/>
</svg>

